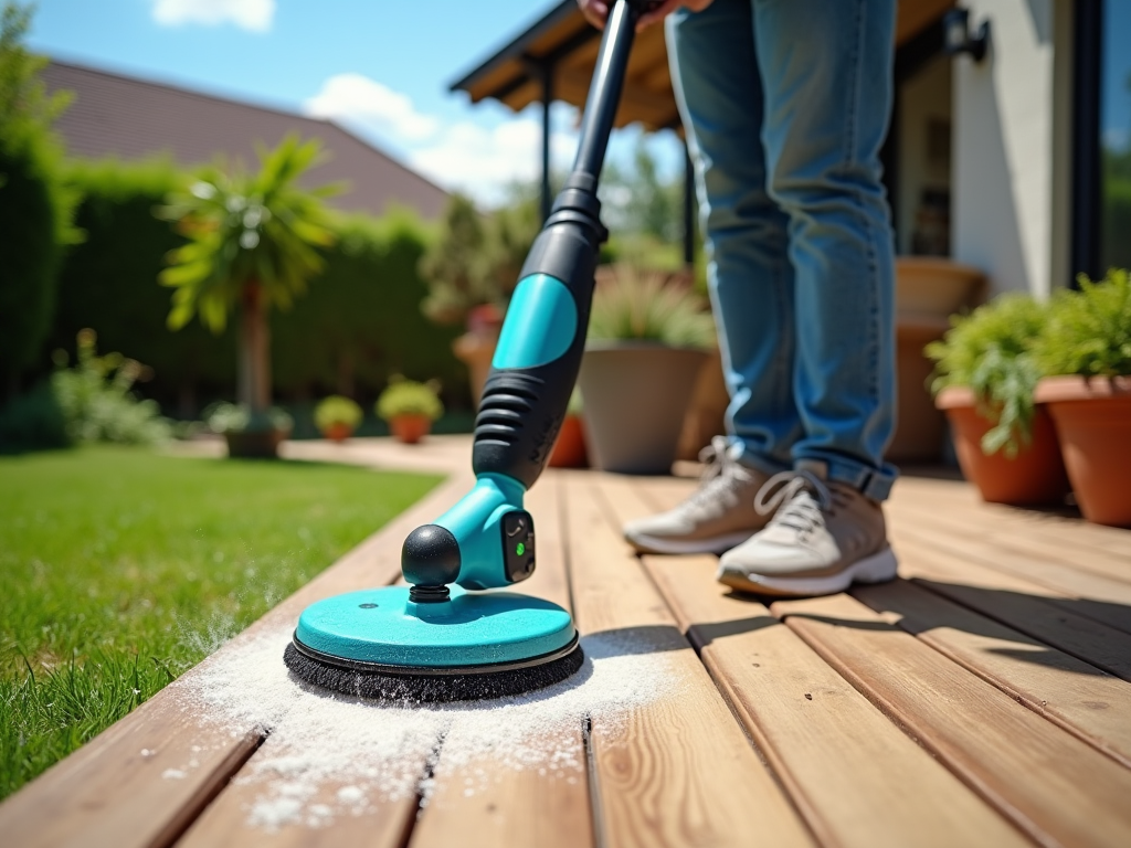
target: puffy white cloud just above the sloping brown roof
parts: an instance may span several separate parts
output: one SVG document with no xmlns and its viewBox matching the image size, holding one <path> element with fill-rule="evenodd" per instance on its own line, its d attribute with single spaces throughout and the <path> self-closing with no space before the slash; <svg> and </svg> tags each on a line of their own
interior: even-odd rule
<svg viewBox="0 0 1131 848">
<path fill-rule="evenodd" d="M 339 73 L 304 104 L 308 114 L 333 118 L 397 141 L 420 142 L 435 135 L 440 121 L 416 111 L 413 102 L 361 73 Z"/>
</svg>

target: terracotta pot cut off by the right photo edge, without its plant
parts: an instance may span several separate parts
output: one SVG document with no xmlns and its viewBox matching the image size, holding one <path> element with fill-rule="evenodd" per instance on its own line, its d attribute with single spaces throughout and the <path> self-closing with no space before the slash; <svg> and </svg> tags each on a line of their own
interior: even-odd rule
<svg viewBox="0 0 1131 848">
<path fill-rule="evenodd" d="M 1037 386 L 1089 521 L 1131 527 L 1131 377 L 1050 377 Z"/>
</svg>

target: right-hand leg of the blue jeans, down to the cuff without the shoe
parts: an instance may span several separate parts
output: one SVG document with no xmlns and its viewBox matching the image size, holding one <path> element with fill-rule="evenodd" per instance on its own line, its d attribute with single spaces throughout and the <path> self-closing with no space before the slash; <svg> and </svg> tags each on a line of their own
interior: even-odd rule
<svg viewBox="0 0 1131 848">
<path fill-rule="evenodd" d="M 895 424 L 895 282 L 880 147 L 895 0 L 753 0 L 769 193 L 796 275 L 794 464 L 883 500 Z"/>
</svg>

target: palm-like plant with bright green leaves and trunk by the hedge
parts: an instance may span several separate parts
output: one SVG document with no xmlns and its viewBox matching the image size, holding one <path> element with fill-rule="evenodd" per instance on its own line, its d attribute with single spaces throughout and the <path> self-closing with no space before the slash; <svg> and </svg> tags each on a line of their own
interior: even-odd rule
<svg viewBox="0 0 1131 848">
<path fill-rule="evenodd" d="M 317 140 L 287 136 L 274 150 L 259 150 L 259 173 L 214 165 L 158 210 L 189 240 L 170 253 L 159 277 L 175 289 L 170 328 L 180 329 L 199 315 L 218 334 L 228 312 L 239 308 L 238 399 L 251 413 L 250 429 L 269 427 L 268 311 L 291 306 L 322 269 L 318 249 L 334 242 L 322 199 L 338 187 L 308 190 L 295 184 L 320 152 Z"/>
</svg>

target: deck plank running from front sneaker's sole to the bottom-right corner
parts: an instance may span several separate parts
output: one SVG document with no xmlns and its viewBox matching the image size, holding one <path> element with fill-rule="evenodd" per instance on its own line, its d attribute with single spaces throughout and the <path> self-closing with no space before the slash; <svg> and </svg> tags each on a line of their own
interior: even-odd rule
<svg viewBox="0 0 1131 848">
<path fill-rule="evenodd" d="M 1037 841 L 1131 843 L 1131 770 L 848 596 L 772 611 Z"/>
</svg>

